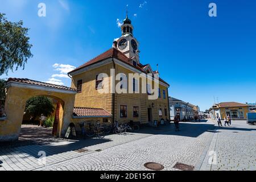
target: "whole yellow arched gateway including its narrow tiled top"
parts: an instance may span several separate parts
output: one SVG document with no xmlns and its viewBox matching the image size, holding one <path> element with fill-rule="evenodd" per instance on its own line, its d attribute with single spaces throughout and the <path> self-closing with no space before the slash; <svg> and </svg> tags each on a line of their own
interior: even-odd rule
<svg viewBox="0 0 256 182">
<path fill-rule="evenodd" d="M 5 101 L 6 119 L 0 121 L 0 142 L 17 140 L 22 125 L 23 112 L 28 98 L 47 96 L 61 100 L 58 122 L 54 133 L 61 137 L 72 119 L 76 90 L 66 86 L 47 84 L 44 82 L 9 78 Z"/>
</svg>

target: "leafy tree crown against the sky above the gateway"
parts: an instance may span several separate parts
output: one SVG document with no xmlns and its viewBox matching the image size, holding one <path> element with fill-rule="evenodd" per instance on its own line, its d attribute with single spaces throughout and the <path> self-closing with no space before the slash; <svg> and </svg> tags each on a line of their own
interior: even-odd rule
<svg viewBox="0 0 256 182">
<path fill-rule="evenodd" d="M 32 44 L 27 36 L 28 28 L 24 28 L 23 22 L 13 23 L 0 13 L 0 75 L 8 73 L 13 68 L 25 66 L 27 60 L 33 57 L 30 49 Z"/>
</svg>

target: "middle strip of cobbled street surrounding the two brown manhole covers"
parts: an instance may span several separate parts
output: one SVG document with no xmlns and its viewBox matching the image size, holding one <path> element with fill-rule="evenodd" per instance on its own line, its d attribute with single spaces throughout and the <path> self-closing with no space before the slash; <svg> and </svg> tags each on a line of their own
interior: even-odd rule
<svg viewBox="0 0 256 182">
<path fill-rule="evenodd" d="M 147 170 L 147 162 L 163 164 L 164 170 L 176 170 L 173 167 L 177 162 L 196 166 L 204 148 L 209 146 L 214 125 L 181 123 L 180 129 L 178 133 L 172 128 L 37 170 Z"/>
</svg>

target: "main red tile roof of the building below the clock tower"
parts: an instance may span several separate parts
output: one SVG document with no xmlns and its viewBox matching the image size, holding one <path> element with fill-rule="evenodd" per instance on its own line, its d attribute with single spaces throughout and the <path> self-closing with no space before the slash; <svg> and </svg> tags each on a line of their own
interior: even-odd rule
<svg viewBox="0 0 256 182">
<path fill-rule="evenodd" d="M 101 61 L 106 60 L 110 57 L 114 57 L 115 59 L 118 59 L 118 60 L 122 61 L 123 63 L 126 63 L 126 64 L 130 65 L 131 67 L 134 67 L 143 73 L 146 73 L 146 72 L 144 72 L 143 68 L 146 68 L 146 66 L 148 64 L 147 65 L 138 64 L 136 67 L 129 62 L 129 58 L 125 54 L 123 54 L 121 51 L 118 51 L 118 49 L 116 49 L 116 48 L 111 48 L 108 51 L 102 53 L 101 55 L 95 57 L 94 59 L 88 61 L 87 63 L 85 63 L 85 64 L 81 65 L 80 67 L 74 69 L 73 71 L 69 72 L 68 74 L 79 71 L 80 69 L 88 67 L 89 65 L 100 63 Z M 159 78 L 159 80 L 164 82 L 165 84 L 169 85 L 166 81 L 162 80 L 161 78 Z"/>
</svg>

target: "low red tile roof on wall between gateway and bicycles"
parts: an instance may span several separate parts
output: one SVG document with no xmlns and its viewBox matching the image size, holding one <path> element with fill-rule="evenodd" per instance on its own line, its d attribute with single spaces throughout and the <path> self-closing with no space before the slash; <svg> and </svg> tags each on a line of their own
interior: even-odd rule
<svg viewBox="0 0 256 182">
<path fill-rule="evenodd" d="M 112 115 L 104 109 L 87 107 L 74 107 L 73 115 L 75 117 L 112 117 Z"/>
</svg>

